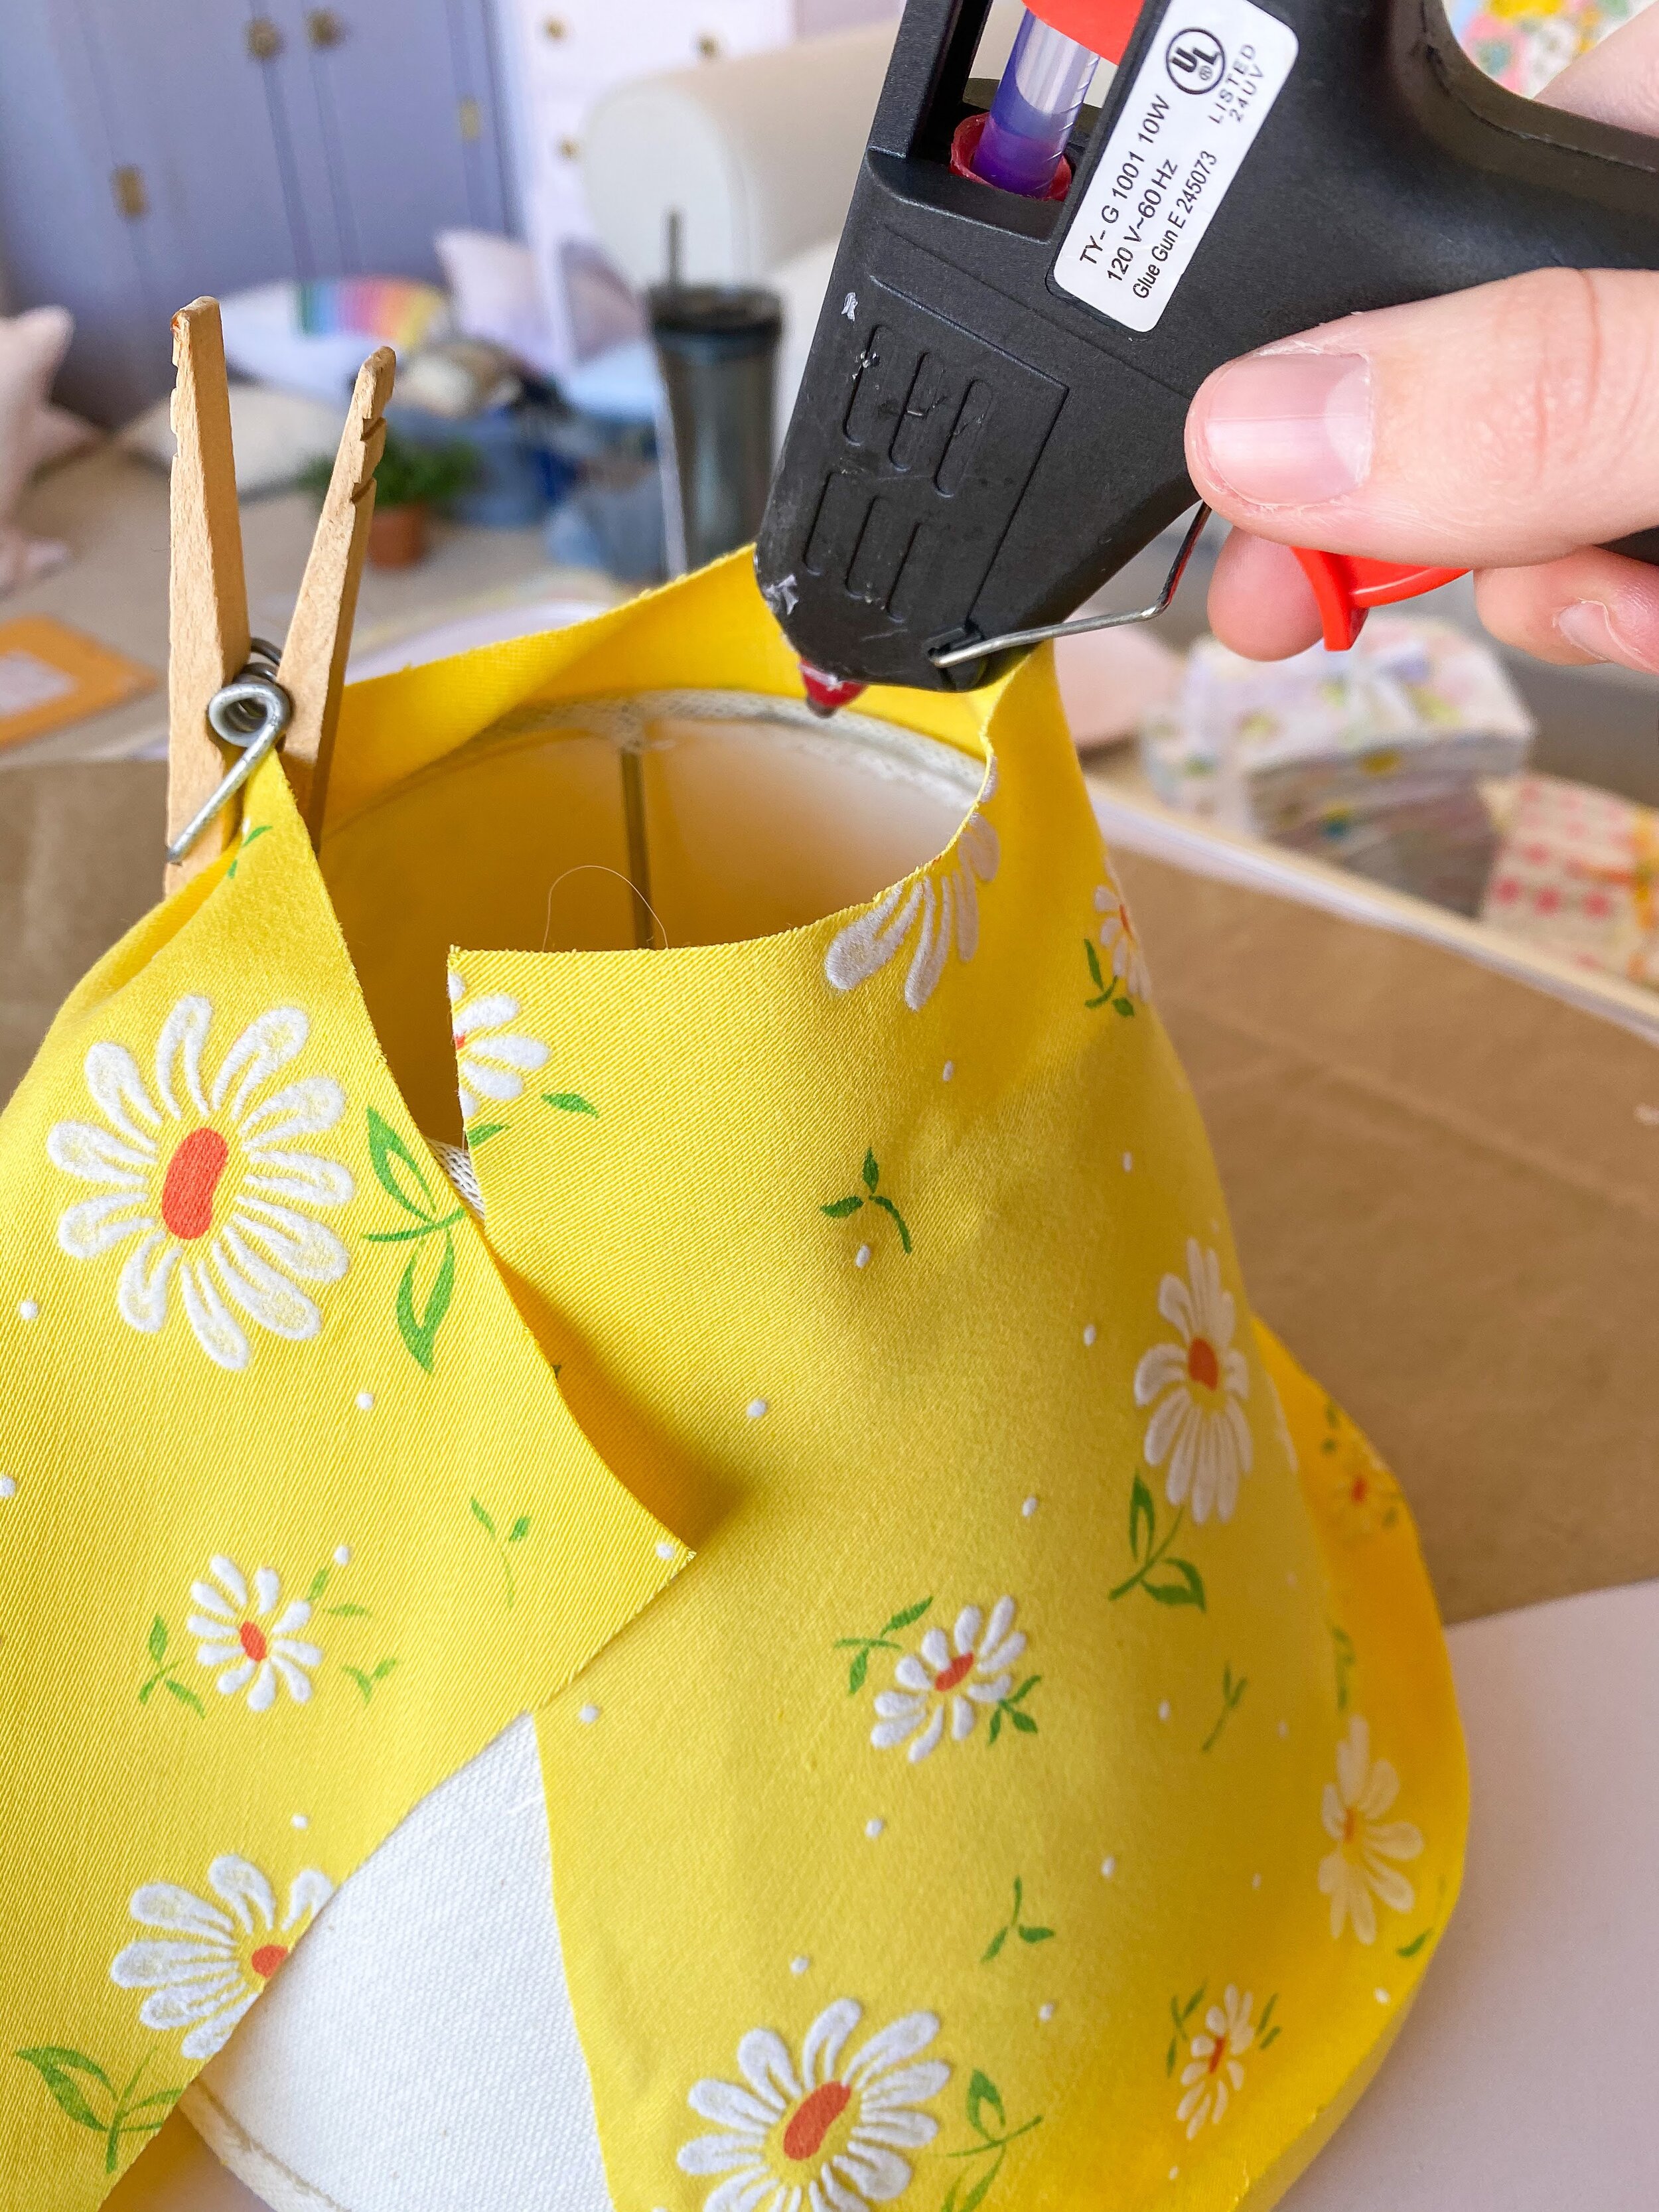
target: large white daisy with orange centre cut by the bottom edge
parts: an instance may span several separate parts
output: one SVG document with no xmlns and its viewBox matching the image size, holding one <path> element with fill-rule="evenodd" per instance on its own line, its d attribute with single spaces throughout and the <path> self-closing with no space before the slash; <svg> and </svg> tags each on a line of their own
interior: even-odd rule
<svg viewBox="0 0 1659 2212">
<path fill-rule="evenodd" d="M 686 2101 L 719 2135 L 686 2143 L 679 2170 L 714 2179 L 703 2212 L 867 2212 L 905 2194 L 900 2152 L 938 2135 L 922 2106 L 951 2068 L 920 2057 L 933 2013 L 907 2013 L 843 2059 L 860 2017 L 852 1997 L 818 2013 L 799 2064 L 781 2035 L 754 2028 L 737 2046 L 741 2084 L 697 2081 Z"/>
</svg>

